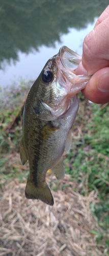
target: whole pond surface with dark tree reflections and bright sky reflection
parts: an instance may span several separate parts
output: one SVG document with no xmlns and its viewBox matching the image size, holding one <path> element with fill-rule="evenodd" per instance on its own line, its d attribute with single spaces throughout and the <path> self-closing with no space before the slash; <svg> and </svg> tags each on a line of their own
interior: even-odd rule
<svg viewBox="0 0 109 256">
<path fill-rule="evenodd" d="M 0 3 L 0 87 L 35 80 L 46 61 L 66 45 L 82 54 L 84 37 L 107 6 L 103 1 L 15 1 Z M 66 3 L 67 2 L 67 3 Z"/>
</svg>

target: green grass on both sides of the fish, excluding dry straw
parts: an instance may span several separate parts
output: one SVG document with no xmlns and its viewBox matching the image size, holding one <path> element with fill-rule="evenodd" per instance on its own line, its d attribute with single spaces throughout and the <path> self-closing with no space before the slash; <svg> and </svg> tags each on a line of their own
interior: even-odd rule
<svg viewBox="0 0 109 256">
<path fill-rule="evenodd" d="M 29 173 L 29 165 L 22 166 L 19 158 L 25 91 L 29 91 L 29 86 L 21 83 L 19 89 L 12 88 L 10 94 L 5 91 L 0 103 L 1 186 L 12 178 L 25 181 Z M 109 248 L 106 238 L 109 228 L 109 104 L 90 104 L 81 93 L 78 97 L 79 111 L 72 129 L 71 150 L 64 156 L 65 169 L 71 180 L 77 182 L 80 194 L 86 196 L 92 190 L 96 191 L 98 202 L 90 203 L 92 215 L 102 228 L 96 233 L 96 242 L 105 239 L 105 248 Z M 67 184 L 62 189 L 64 186 Z M 57 183 L 55 189 L 58 189 Z"/>
</svg>

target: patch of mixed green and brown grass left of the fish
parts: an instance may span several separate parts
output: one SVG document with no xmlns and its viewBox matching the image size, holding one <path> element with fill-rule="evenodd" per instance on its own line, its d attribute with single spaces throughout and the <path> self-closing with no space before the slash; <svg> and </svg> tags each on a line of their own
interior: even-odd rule
<svg viewBox="0 0 109 256">
<path fill-rule="evenodd" d="M 1 90 L 0 94 L 0 184 L 12 178 L 23 180 L 27 170 L 22 169 L 19 145 L 22 136 L 21 113 L 30 84 L 20 82 L 18 88 Z M 17 164 L 16 164 L 17 163 Z M 18 167 L 17 167 L 18 165 Z M 29 172 L 28 172 L 29 173 Z"/>
</svg>

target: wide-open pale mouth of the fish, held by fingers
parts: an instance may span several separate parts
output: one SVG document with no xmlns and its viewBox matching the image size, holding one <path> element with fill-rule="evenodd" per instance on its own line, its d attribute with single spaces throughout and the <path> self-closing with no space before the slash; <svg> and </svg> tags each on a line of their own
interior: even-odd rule
<svg viewBox="0 0 109 256">
<path fill-rule="evenodd" d="M 66 81 L 69 93 L 75 95 L 80 90 L 84 89 L 91 78 L 91 76 L 76 75 L 75 70 L 81 61 L 81 56 L 70 50 L 68 47 L 63 46 L 56 57 L 56 62 L 59 70 L 61 71 L 64 80 Z"/>
</svg>

